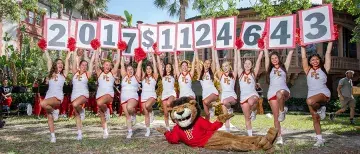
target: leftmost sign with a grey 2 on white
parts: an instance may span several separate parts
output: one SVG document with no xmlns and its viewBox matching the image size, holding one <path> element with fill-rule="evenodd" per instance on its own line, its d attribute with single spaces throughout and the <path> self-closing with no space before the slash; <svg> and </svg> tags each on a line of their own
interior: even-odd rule
<svg viewBox="0 0 360 154">
<path fill-rule="evenodd" d="M 70 22 L 68 20 L 47 18 L 44 28 L 47 49 L 67 50 L 67 40 L 70 36 Z"/>
</svg>

